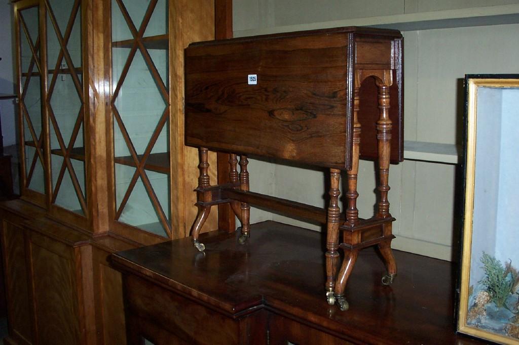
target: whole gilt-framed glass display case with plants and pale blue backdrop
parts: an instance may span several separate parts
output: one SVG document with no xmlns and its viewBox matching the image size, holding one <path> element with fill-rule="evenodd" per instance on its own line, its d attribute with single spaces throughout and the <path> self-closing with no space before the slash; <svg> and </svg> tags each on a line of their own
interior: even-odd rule
<svg viewBox="0 0 519 345">
<path fill-rule="evenodd" d="M 519 75 L 465 76 L 457 329 L 519 344 Z"/>
</svg>

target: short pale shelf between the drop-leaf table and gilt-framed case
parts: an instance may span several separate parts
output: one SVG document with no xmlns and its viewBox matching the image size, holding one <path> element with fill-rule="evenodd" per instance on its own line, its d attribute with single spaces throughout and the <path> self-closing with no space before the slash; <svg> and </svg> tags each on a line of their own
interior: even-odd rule
<svg viewBox="0 0 519 345">
<path fill-rule="evenodd" d="M 459 148 L 454 144 L 425 141 L 404 141 L 404 159 L 457 164 Z"/>
</svg>

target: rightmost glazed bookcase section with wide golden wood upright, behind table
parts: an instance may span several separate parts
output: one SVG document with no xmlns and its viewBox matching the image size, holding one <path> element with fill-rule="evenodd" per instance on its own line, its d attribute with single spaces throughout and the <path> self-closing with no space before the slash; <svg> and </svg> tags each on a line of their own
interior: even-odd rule
<svg viewBox="0 0 519 345">
<path fill-rule="evenodd" d="M 197 212 L 198 154 L 184 146 L 183 50 L 214 37 L 214 3 L 110 4 L 114 230 L 150 244 L 184 237 Z M 216 183 L 215 155 L 211 163 Z M 216 224 L 213 212 L 207 228 Z"/>
</svg>

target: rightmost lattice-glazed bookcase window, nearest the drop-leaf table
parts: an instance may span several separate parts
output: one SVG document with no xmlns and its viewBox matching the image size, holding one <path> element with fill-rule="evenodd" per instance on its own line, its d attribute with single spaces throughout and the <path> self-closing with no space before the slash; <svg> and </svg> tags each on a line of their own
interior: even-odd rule
<svg viewBox="0 0 519 345">
<path fill-rule="evenodd" d="M 143 39 L 148 50 L 137 49 L 130 54 L 134 40 L 140 38 L 133 37 L 123 16 L 127 12 L 135 29 L 139 30 L 145 24 L 143 19 L 147 13 L 151 20 L 144 28 L 144 36 L 167 34 L 167 1 L 159 0 L 155 7 L 150 4 L 112 1 L 112 39 L 117 42 L 112 45 L 115 204 L 120 210 L 118 221 L 167 236 L 171 227 L 169 119 L 164 121 L 163 114 L 169 107 L 169 96 L 167 91 L 161 91 L 169 84 L 167 37 L 160 42 L 154 40 L 153 44 Z M 124 7 L 122 11 L 120 5 Z M 123 40 L 128 41 L 120 42 Z M 127 71 L 125 65 L 129 66 Z M 138 155 L 137 164 L 142 164 L 143 156 L 148 155 L 145 172 L 137 176 L 133 188 L 130 182 L 136 163 L 130 155 L 132 149 Z M 146 190 L 143 183 L 146 180 L 153 192 Z M 168 229 L 160 222 L 163 218 L 167 220 Z"/>
</svg>

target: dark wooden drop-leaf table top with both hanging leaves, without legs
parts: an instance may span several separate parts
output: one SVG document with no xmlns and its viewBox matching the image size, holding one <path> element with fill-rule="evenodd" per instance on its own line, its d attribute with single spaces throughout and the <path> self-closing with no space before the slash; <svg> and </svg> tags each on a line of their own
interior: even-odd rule
<svg viewBox="0 0 519 345">
<path fill-rule="evenodd" d="M 360 155 L 375 160 L 379 109 L 370 76 L 384 72 L 392 80 L 386 82 L 397 163 L 403 160 L 399 31 L 339 27 L 190 44 L 186 145 L 351 169 L 356 83 L 362 84 Z"/>
</svg>

